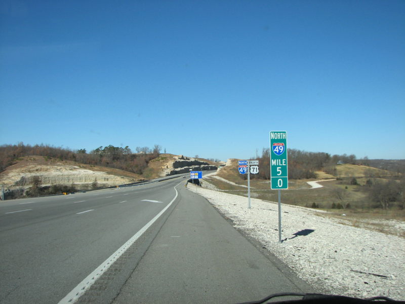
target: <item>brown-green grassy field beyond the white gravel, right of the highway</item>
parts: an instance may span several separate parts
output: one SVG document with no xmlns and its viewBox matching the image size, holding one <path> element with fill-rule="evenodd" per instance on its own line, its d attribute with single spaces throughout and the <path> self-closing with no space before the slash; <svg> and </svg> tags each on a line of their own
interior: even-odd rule
<svg viewBox="0 0 405 304">
<path fill-rule="evenodd" d="M 370 170 L 376 176 L 390 176 L 392 172 L 357 165 L 340 165 L 338 176 L 339 180 L 319 182 L 323 187 L 311 188 L 307 181 L 333 178 L 330 174 L 318 174 L 317 179 L 307 180 L 289 180 L 289 189 L 281 191 L 281 202 L 284 204 L 315 207 L 331 212 L 333 216 L 346 214 L 344 218 L 378 218 L 378 219 L 400 219 L 405 220 L 405 210 L 398 206 L 393 206 L 389 210 L 383 210 L 379 204 L 372 202 L 369 195 L 362 185 L 366 184 L 368 177 L 366 174 Z M 318 172 L 317 172 L 318 173 Z M 248 196 L 246 176 L 242 176 L 237 171 L 237 160 L 232 160 L 231 164 L 221 168 L 218 176 L 235 183 L 230 184 L 214 177 L 208 177 L 205 180 L 215 185 L 222 191 L 239 196 Z M 351 185 L 350 180 L 355 177 L 359 185 Z M 382 178 L 377 178 L 383 180 Z M 270 181 L 255 179 L 251 175 L 251 197 L 264 201 L 277 202 L 278 191 L 270 189 Z M 341 209 L 332 208 L 341 207 Z"/>
</svg>

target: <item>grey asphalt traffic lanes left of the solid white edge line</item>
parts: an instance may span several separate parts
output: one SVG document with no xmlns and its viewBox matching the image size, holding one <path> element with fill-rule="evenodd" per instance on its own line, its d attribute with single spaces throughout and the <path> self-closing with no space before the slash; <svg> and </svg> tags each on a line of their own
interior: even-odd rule
<svg viewBox="0 0 405 304">
<path fill-rule="evenodd" d="M 170 203 L 180 180 L 0 203 L 0 302 L 58 303 Z"/>
</svg>

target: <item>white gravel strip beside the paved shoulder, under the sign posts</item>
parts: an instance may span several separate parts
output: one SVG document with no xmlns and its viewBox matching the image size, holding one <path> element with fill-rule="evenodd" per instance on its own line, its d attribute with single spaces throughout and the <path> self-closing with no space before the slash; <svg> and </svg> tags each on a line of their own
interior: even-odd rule
<svg viewBox="0 0 405 304">
<path fill-rule="evenodd" d="M 191 186 L 188 189 L 196 191 Z M 282 204 L 280 244 L 276 203 L 251 199 L 252 208 L 248 209 L 245 197 L 201 187 L 197 193 L 315 290 L 405 300 L 404 238 L 338 223 L 337 219 L 324 216 L 325 211 Z M 405 231 L 404 222 L 395 224 Z"/>
</svg>

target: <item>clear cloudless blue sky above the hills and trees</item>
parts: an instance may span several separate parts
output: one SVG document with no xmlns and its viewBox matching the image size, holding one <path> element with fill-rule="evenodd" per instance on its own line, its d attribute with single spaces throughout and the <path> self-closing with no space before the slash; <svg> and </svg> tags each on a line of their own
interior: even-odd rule
<svg viewBox="0 0 405 304">
<path fill-rule="evenodd" d="M 405 1 L 0 1 L 0 144 L 405 159 Z"/>
</svg>

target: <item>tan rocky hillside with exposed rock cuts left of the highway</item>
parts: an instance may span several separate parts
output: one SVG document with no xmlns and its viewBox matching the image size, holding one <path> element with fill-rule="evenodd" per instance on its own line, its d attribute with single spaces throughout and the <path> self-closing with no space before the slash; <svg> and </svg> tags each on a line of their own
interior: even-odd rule
<svg viewBox="0 0 405 304">
<path fill-rule="evenodd" d="M 148 163 L 144 174 L 79 164 L 67 160 L 42 156 L 20 158 L 15 164 L 0 173 L 0 183 L 10 191 L 27 189 L 33 181 L 40 180 L 41 186 L 71 185 L 78 189 L 90 188 L 93 183 L 100 187 L 115 186 L 152 179 L 167 175 L 188 173 L 192 170 L 216 169 L 218 164 L 205 159 L 188 158 L 172 154 L 161 154 Z"/>
</svg>

